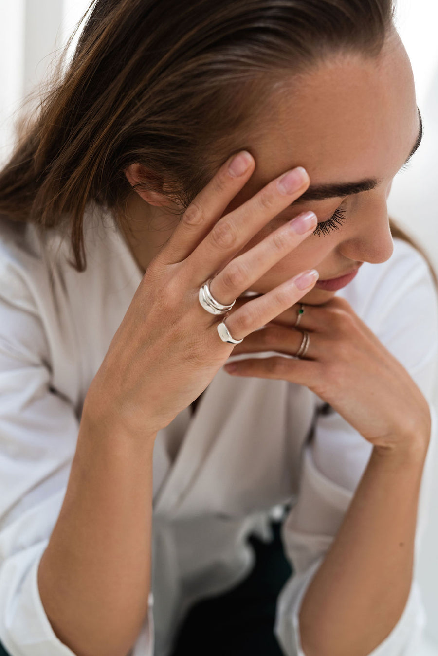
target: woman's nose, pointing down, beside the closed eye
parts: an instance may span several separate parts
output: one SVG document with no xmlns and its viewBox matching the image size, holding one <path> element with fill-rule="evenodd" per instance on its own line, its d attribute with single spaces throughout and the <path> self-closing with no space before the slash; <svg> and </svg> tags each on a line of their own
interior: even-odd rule
<svg viewBox="0 0 438 656">
<path fill-rule="evenodd" d="M 389 230 L 388 205 L 386 194 L 383 198 L 370 199 L 360 211 L 351 216 L 351 230 L 345 233 L 345 240 L 339 250 L 350 260 L 380 264 L 389 260 L 394 243 Z"/>
</svg>

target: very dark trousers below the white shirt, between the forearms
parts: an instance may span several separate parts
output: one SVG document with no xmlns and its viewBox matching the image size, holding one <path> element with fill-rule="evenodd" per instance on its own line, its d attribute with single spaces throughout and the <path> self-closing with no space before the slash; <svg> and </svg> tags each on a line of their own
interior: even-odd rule
<svg viewBox="0 0 438 656">
<path fill-rule="evenodd" d="M 171 656 L 284 656 L 273 625 L 278 594 L 292 569 L 281 544 L 281 522 L 271 525 L 270 543 L 249 536 L 256 562 L 247 578 L 191 607 Z M 1 644 L 0 656 L 10 656 Z"/>
</svg>

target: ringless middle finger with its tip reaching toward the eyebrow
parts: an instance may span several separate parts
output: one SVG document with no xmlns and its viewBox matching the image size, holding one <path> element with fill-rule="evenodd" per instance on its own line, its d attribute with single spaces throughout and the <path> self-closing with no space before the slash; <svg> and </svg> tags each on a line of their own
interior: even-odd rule
<svg viewBox="0 0 438 656">
<path fill-rule="evenodd" d="M 296 167 L 269 182 L 246 203 L 220 218 L 186 260 L 193 272 L 195 285 L 202 284 L 220 271 L 264 225 L 296 201 L 308 186 L 306 170 Z"/>
</svg>

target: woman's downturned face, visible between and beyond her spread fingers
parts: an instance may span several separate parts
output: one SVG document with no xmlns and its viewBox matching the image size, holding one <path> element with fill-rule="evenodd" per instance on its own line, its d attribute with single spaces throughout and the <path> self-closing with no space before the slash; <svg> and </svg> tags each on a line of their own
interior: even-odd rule
<svg viewBox="0 0 438 656">
<path fill-rule="evenodd" d="M 329 220 L 338 208 L 344 211 L 342 225 L 311 234 L 250 289 L 265 293 L 305 269 L 316 268 L 323 280 L 342 276 L 361 262 L 388 260 L 393 241 L 386 201 L 420 131 L 412 69 L 399 36 L 389 37 L 377 59 L 344 55 L 309 73 L 296 87 L 288 89 L 285 81 L 262 121 L 264 129 L 249 143 L 256 169 L 225 214 L 298 165 L 309 173 L 309 190 L 364 180 L 368 190 L 298 199 L 277 215 L 242 253 L 301 211 L 313 210 L 318 222 Z M 335 294 L 313 287 L 302 301 L 322 304 Z"/>
</svg>

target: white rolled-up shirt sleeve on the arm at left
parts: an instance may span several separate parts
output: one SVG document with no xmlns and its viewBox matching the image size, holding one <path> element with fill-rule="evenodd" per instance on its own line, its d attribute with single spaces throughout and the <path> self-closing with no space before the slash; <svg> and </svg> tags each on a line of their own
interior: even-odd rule
<svg viewBox="0 0 438 656">
<path fill-rule="evenodd" d="M 16 264 L 0 259 L 0 644 L 10 656 L 75 656 L 37 584 L 79 430 L 73 403 L 52 387 L 38 306 Z M 134 656 L 153 653 L 152 602 Z"/>
</svg>

